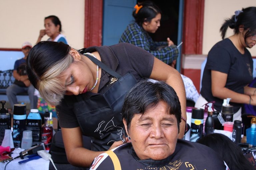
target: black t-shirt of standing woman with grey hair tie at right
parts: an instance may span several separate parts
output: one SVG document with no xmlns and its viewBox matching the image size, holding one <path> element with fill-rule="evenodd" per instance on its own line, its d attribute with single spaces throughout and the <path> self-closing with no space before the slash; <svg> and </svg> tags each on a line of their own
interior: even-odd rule
<svg viewBox="0 0 256 170">
<path fill-rule="evenodd" d="M 223 100 L 213 97 L 211 86 L 211 70 L 228 74 L 225 87 L 237 92 L 244 93 L 244 87 L 252 81 L 253 61 L 250 52 L 244 48 L 241 54 L 229 39 L 216 43 L 208 53 L 207 62 L 202 78 L 201 95 L 208 101 L 215 101 L 214 108 L 221 111 Z M 242 104 L 232 103 L 234 113 Z"/>
</svg>

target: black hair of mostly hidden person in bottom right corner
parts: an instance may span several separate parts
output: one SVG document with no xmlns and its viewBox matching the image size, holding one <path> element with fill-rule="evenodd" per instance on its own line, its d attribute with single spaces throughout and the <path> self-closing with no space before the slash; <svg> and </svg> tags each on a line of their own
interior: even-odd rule
<svg viewBox="0 0 256 170">
<path fill-rule="evenodd" d="M 241 148 L 230 138 L 212 133 L 198 140 L 198 143 L 212 148 L 227 163 L 229 169 L 252 170 L 254 166 L 244 156 Z"/>
</svg>

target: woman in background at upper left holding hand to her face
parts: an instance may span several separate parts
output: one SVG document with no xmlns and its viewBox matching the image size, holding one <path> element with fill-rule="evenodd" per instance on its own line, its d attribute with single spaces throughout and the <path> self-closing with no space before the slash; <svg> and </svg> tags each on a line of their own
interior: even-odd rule
<svg viewBox="0 0 256 170">
<path fill-rule="evenodd" d="M 54 15 L 50 15 L 48 17 L 44 18 L 44 28 L 43 30 L 40 30 L 39 37 L 37 39 L 37 42 L 40 42 L 42 38 L 47 35 L 49 36 L 49 39 L 47 41 L 54 41 L 54 42 L 64 42 L 65 44 L 68 44 L 66 38 L 64 35 L 61 34 L 61 22 L 58 17 Z"/>
</svg>

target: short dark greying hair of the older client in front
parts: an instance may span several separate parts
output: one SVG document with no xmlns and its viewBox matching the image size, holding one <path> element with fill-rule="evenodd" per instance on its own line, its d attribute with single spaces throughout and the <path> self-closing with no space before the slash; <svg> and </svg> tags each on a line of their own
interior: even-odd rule
<svg viewBox="0 0 256 170">
<path fill-rule="evenodd" d="M 144 114 L 148 109 L 155 107 L 160 101 L 167 104 L 170 115 L 175 115 L 180 129 L 181 106 L 174 89 L 163 81 L 151 82 L 142 80 L 137 83 L 126 95 L 122 117 L 126 121 L 127 130 L 130 129 L 134 114 Z"/>
</svg>

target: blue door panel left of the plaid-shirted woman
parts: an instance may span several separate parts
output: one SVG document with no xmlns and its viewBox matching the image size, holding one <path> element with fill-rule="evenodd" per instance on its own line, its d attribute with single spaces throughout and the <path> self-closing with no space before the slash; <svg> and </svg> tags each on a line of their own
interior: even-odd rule
<svg viewBox="0 0 256 170">
<path fill-rule="evenodd" d="M 117 44 L 128 24 L 137 0 L 104 0 L 102 45 Z"/>
</svg>

